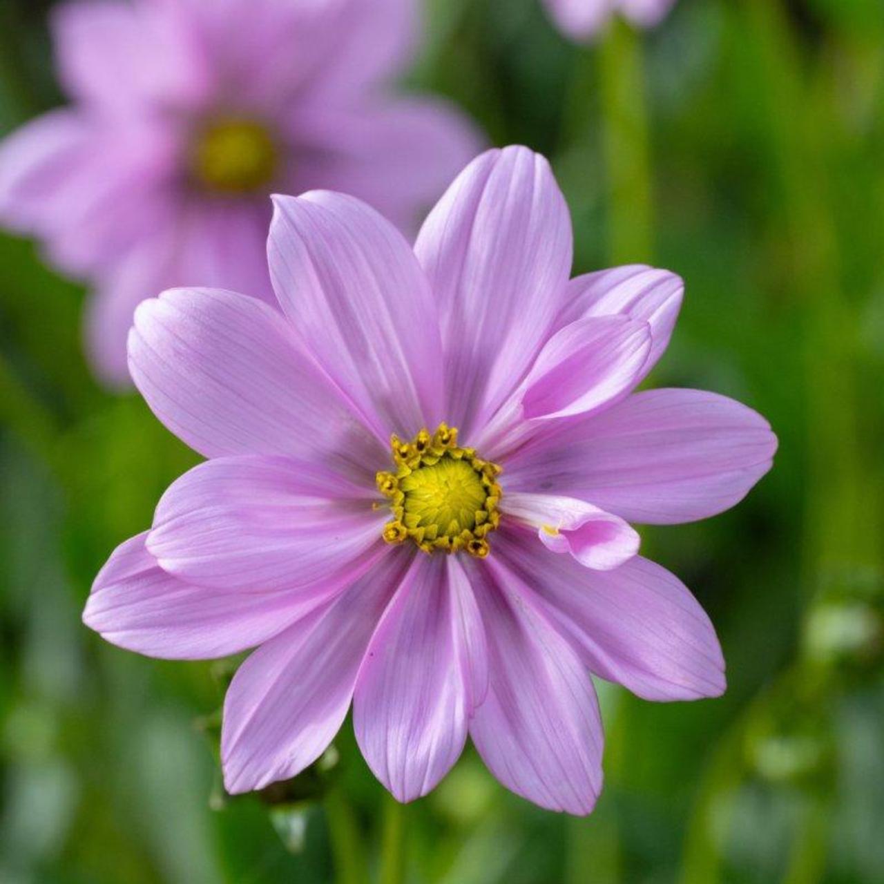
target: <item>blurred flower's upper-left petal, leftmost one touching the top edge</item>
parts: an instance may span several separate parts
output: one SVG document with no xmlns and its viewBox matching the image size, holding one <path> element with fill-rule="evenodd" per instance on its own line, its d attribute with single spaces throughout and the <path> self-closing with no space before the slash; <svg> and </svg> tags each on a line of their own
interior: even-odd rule
<svg viewBox="0 0 884 884">
<path fill-rule="evenodd" d="M 116 114 L 193 106 L 209 86 L 171 4 L 72 0 L 51 17 L 57 68 L 72 97 Z"/>
</svg>

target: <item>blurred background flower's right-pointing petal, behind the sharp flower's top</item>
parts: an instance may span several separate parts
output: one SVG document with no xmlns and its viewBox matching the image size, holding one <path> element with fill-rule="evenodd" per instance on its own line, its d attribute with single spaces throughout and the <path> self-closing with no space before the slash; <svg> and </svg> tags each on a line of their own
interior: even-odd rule
<svg viewBox="0 0 884 884">
<path fill-rule="evenodd" d="M 351 194 L 410 233 L 482 147 L 459 110 L 430 97 L 323 104 L 295 113 L 288 129 L 296 159 L 286 193 Z"/>
</svg>

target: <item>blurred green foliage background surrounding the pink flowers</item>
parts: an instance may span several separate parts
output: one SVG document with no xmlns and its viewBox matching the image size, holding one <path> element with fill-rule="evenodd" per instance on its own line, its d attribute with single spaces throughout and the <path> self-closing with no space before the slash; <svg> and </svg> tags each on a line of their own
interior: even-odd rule
<svg viewBox="0 0 884 884">
<path fill-rule="evenodd" d="M 0 0 L 0 133 L 62 100 L 48 6 Z M 323 770 L 225 800 L 231 667 L 80 624 L 103 560 L 196 458 L 95 385 L 84 292 L 0 237 L 0 881 L 884 881 L 884 2 L 680 0 L 651 34 L 578 47 L 538 0 L 434 0 L 427 32 L 408 85 L 551 157 L 576 272 L 686 279 L 652 383 L 734 396 L 781 439 L 734 511 L 643 530 L 711 614 L 727 695 L 599 685 L 588 819 L 511 796 L 472 750 L 402 811 L 349 724 Z"/>
</svg>

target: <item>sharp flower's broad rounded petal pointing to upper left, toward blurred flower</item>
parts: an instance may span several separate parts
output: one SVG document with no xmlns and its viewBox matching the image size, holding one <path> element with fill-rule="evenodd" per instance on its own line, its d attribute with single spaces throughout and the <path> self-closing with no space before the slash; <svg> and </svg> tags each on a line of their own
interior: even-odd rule
<svg viewBox="0 0 884 884">
<path fill-rule="evenodd" d="M 367 482 L 388 459 L 285 318 L 244 295 L 176 289 L 143 301 L 129 368 L 156 416 L 207 457 L 336 453 Z"/>
</svg>

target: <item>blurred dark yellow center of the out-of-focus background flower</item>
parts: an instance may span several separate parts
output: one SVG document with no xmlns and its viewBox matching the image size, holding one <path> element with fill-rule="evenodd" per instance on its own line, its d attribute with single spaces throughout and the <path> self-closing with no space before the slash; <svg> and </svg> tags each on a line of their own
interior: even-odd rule
<svg viewBox="0 0 884 884">
<path fill-rule="evenodd" d="M 220 118 L 198 134 L 191 172 L 207 190 L 245 194 L 270 184 L 278 159 L 267 126 L 251 119 Z"/>
</svg>

